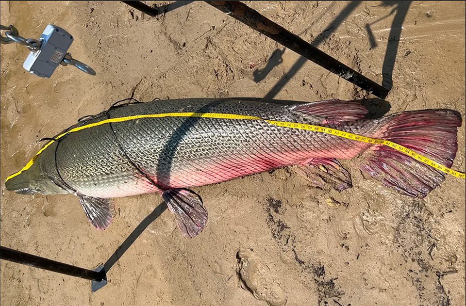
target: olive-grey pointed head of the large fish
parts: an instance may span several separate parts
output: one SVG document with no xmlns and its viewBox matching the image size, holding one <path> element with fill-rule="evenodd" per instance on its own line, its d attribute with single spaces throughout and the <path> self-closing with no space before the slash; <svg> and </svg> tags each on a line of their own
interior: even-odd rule
<svg viewBox="0 0 466 306">
<path fill-rule="evenodd" d="M 18 194 L 57 194 L 68 193 L 66 189 L 57 185 L 54 180 L 44 171 L 41 171 L 38 162 L 34 162 L 31 167 L 21 170 L 8 177 L 5 187 L 9 191 Z"/>
</svg>

